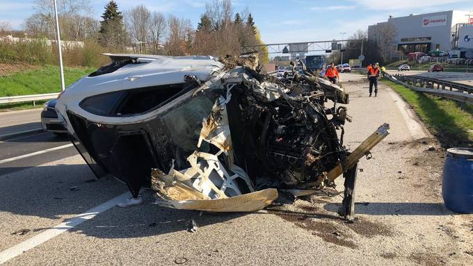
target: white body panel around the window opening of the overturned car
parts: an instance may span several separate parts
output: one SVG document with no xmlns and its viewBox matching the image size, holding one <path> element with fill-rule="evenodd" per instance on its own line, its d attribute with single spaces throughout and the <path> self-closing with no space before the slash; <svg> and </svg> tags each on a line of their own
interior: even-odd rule
<svg viewBox="0 0 473 266">
<path fill-rule="evenodd" d="M 119 90 L 132 90 L 156 85 L 184 83 L 184 76 L 196 76 L 200 81 L 207 81 L 211 74 L 223 68 L 223 64 L 211 56 L 147 56 L 140 54 L 111 54 L 104 53 L 112 59 L 127 57 L 135 58 L 142 64 L 125 65 L 115 72 L 99 75 L 84 76 L 70 85 L 56 103 L 59 119 L 72 134 L 67 112 L 72 112 L 95 123 L 131 124 L 152 119 L 159 108 L 149 113 L 127 117 L 104 117 L 94 115 L 79 106 L 87 97 Z"/>
</svg>

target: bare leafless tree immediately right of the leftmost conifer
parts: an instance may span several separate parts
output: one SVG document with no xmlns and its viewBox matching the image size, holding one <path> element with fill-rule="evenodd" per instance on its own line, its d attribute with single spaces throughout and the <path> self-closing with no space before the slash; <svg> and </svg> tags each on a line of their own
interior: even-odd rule
<svg viewBox="0 0 473 266">
<path fill-rule="evenodd" d="M 125 13 L 125 23 L 131 38 L 136 43 L 139 52 L 146 50 L 146 43 L 150 40 L 151 12 L 144 5 L 136 6 Z"/>
</svg>

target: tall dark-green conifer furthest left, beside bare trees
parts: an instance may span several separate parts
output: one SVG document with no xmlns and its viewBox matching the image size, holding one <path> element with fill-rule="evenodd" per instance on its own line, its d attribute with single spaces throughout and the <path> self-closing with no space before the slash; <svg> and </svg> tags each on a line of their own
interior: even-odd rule
<svg viewBox="0 0 473 266">
<path fill-rule="evenodd" d="M 111 49 L 112 47 L 122 47 L 125 42 L 125 29 L 123 26 L 123 16 L 118 10 L 118 5 L 111 0 L 105 6 L 100 22 L 99 42 Z"/>
</svg>

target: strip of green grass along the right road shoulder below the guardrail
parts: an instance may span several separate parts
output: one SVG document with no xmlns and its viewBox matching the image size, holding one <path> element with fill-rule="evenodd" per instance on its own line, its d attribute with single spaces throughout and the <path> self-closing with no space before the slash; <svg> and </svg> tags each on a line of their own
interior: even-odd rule
<svg viewBox="0 0 473 266">
<path fill-rule="evenodd" d="M 401 94 L 444 146 L 473 147 L 473 106 L 415 92 L 385 78 L 381 81 Z"/>
</svg>

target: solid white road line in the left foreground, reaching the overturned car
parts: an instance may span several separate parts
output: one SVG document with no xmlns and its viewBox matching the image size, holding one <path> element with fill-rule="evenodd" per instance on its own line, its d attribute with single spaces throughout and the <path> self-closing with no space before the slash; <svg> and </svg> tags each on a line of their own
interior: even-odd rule
<svg viewBox="0 0 473 266">
<path fill-rule="evenodd" d="M 74 228 L 89 219 L 93 219 L 93 217 L 95 217 L 99 213 L 103 213 L 104 211 L 113 208 L 118 203 L 124 201 L 128 197 L 131 197 L 131 194 L 129 192 L 125 192 L 120 196 L 106 201 L 105 203 L 102 203 L 95 208 L 87 210 L 85 213 L 81 213 L 80 215 L 77 215 L 67 220 L 66 222 L 58 224 L 57 226 L 54 226 L 51 229 L 47 229 L 46 231 L 39 233 L 38 235 L 33 236 L 33 238 L 30 238 L 29 240 L 25 240 L 24 242 L 10 247 L 10 249 L 0 252 L 0 264 L 6 263 L 8 260 L 15 258 L 16 256 L 22 255 L 22 253 L 29 251 L 29 249 L 33 249 L 33 247 L 37 247 L 38 245 L 47 242 L 48 240 L 51 240 L 51 238 L 55 238 L 56 236 L 61 235 L 61 233 L 69 231 L 71 228 Z"/>
</svg>

